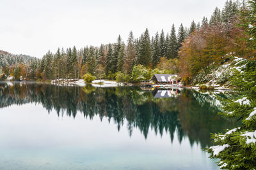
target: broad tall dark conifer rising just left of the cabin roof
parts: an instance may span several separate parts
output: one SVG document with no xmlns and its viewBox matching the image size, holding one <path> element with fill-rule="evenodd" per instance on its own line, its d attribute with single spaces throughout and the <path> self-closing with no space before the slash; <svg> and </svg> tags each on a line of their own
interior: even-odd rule
<svg viewBox="0 0 256 170">
<path fill-rule="evenodd" d="M 148 29 L 144 32 L 143 36 L 141 36 L 139 44 L 138 44 L 138 64 L 142 64 L 144 66 L 150 66 L 150 62 L 152 60 L 152 48 L 150 45 L 150 36 Z"/>
</svg>

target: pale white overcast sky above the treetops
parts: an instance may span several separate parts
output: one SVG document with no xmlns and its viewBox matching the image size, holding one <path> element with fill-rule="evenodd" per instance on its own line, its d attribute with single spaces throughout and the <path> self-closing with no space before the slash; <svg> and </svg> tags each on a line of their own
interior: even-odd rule
<svg viewBox="0 0 256 170">
<path fill-rule="evenodd" d="M 114 43 L 118 34 L 127 41 L 130 31 L 137 38 L 146 28 L 170 32 L 180 23 L 210 18 L 225 0 L 1 0 L 0 50 L 41 58 L 58 47 L 81 48 Z"/>
</svg>

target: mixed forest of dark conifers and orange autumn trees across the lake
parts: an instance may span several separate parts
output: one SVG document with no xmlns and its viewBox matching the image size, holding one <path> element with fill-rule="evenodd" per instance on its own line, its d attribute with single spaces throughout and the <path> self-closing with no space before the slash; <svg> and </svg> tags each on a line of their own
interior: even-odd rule
<svg viewBox="0 0 256 170">
<path fill-rule="evenodd" d="M 77 49 L 58 48 L 42 59 L 12 57 L 0 52 L 0 79 L 12 75 L 16 80 L 53 80 L 81 78 L 90 73 L 96 78 L 139 82 L 154 73 L 179 74 L 186 85 L 197 73 L 220 66 L 232 57 L 254 60 L 256 53 L 256 20 L 253 1 L 226 1 L 221 10 L 216 7 L 211 18 L 193 20 L 189 28 L 179 25 L 176 32 L 163 29 L 150 36 L 145 29 L 140 38 L 129 32 L 125 42 L 117 36 L 116 43 L 85 46 Z M 8 57 L 9 56 L 9 57 Z"/>
</svg>

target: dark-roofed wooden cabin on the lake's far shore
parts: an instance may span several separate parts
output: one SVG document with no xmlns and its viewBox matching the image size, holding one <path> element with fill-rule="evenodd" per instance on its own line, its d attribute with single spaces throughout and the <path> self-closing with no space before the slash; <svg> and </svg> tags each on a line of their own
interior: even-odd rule
<svg viewBox="0 0 256 170">
<path fill-rule="evenodd" d="M 177 74 L 154 74 L 151 78 L 155 84 L 167 85 L 177 84 Z"/>
</svg>

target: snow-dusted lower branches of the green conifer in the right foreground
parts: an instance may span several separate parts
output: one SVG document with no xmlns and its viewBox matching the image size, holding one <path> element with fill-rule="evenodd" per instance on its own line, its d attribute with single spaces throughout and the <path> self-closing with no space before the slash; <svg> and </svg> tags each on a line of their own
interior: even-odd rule
<svg viewBox="0 0 256 170">
<path fill-rule="evenodd" d="M 244 63 L 245 62 L 245 63 Z M 233 75 L 233 85 L 239 90 L 237 99 L 223 103 L 223 117 L 242 120 L 240 127 L 214 134 L 216 146 L 207 148 L 211 158 L 220 160 L 221 169 L 255 169 L 256 157 L 256 62 L 242 61 L 241 73 Z"/>
</svg>

